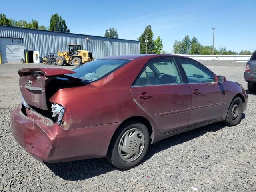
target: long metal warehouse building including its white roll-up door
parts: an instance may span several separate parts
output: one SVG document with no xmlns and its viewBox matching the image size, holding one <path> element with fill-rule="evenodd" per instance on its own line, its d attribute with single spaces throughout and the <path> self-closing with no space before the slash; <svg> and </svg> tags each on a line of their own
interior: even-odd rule
<svg viewBox="0 0 256 192">
<path fill-rule="evenodd" d="M 83 49 L 91 51 L 95 58 L 140 53 L 140 42 L 135 40 L 0 25 L 2 63 L 25 61 L 26 52 L 28 62 L 33 62 L 33 51 L 39 51 L 42 62 L 48 52 L 67 51 L 68 44 L 81 44 Z"/>
</svg>

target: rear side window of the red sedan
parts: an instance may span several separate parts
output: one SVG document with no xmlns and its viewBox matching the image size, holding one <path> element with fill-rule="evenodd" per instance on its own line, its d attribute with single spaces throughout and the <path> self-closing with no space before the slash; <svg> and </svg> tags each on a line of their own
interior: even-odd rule
<svg viewBox="0 0 256 192">
<path fill-rule="evenodd" d="M 134 85 L 182 83 L 174 59 L 158 59 L 147 64 Z"/>
</svg>

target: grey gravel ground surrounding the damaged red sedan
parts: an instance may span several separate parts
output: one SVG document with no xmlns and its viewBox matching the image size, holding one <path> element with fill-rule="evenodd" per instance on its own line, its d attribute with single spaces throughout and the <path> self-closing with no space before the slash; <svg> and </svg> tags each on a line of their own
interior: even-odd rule
<svg viewBox="0 0 256 192">
<path fill-rule="evenodd" d="M 246 88 L 245 63 L 200 62 Z M 238 126 L 216 123 L 152 144 L 146 160 L 127 171 L 105 158 L 43 164 L 10 131 L 10 111 L 20 102 L 16 71 L 24 66 L 0 65 L 0 191 L 256 191 L 255 94 Z"/>
</svg>

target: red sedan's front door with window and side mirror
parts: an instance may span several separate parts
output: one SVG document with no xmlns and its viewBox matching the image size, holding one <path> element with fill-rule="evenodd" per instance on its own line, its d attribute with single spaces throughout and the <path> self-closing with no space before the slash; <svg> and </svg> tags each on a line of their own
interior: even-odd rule
<svg viewBox="0 0 256 192">
<path fill-rule="evenodd" d="M 226 86 L 217 76 L 193 60 L 178 58 L 192 93 L 190 126 L 222 118 L 227 105 Z"/>
</svg>

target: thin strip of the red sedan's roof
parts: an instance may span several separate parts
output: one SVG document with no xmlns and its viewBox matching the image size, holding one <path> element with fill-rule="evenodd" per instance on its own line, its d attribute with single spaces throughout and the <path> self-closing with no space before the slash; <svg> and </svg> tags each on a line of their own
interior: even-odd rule
<svg viewBox="0 0 256 192">
<path fill-rule="evenodd" d="M 100 59 L 129 59 L 134 60 L 139 57 L 147 57 L 149 59 L 154 57 L 184 57 L 180 55 L 172 55 L 172 54 L 134 54 L 134 55 L 119 55 L 119 56 L 110 56 Z M 185 58 L 185 57 L 184 57 Z"/>
</svg>

